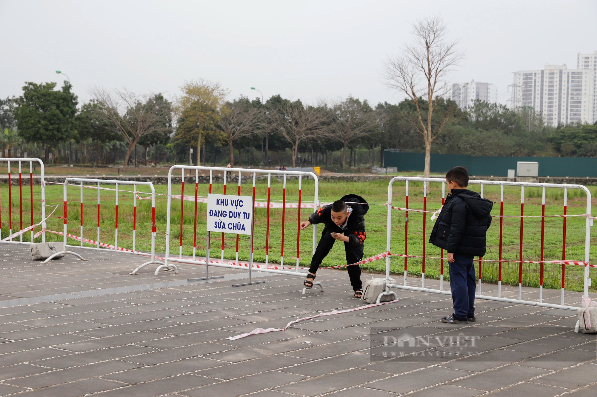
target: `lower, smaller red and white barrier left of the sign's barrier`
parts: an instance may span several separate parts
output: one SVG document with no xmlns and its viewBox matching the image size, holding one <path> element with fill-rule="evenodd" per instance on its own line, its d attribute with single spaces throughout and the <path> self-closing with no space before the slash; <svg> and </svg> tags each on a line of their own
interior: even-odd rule
<svg viewBox="0 0 597 397">
<path fill-rule="evenodd" d="M 68 202 L 67 202 L 67 187 L 68 186 L 73 186 L 72 183 L 69 182 L 79 182 L 78 185 L 74 185 L 74 186 L 78 186 L 80 189 L 80 198 L 79 198 L 79 233 L 80 236 L 76 236 L 76 235 L 72 235 L 69 234 L 67 231 L 67 207 L 68 207 Z M 94 185 L 97 184 L 97 186 L 94 185 L 84 185 L 83 183 L 93 183 Z M 110 245 L 110 244 L 106 244 L 106 243 L 101 243 L 100 242 L 100 190 L 106 189 L 104 187 L 100 187 L 100 183 L 102 184 L 115 184 L 116 189 L 108 189 L 108 190 L 114 190 L 115 192 L 115 224 L 114 224 L 114 235 L 115 235 L 115 242 L 114 245 Z M 122 190 L 118 189 L 118 185 L 122 185 L 122 184 L 128 184 L 128 185 L 133 185 L 133 191 L 131 192 L 130 190 L 125 190 L 125 192 L 128 193 L 133 193 L 133 250 L 128 250 L 126 248 L 121 248 L 118 247 L 118 192 L 122 192 Z M 141 185 L 141 186 L 149 186 L 149 189 L 151 190 L 151 192 L 149 194 L 151 194 L 151 198 L 152 198 L 152 226 L 151 226 L 151 252 L 150 253 L 141 253 L 139 251 L 136 251 L 136 230 L 137 230 L 137 201 L 136 201 L 136 196 L 137 196 L 137 185 Z M 84 188 L 90 188 L 90 189 L 97 189 L 97 240 L 90 240 L 90 239 L 86 239 L 83 236 L 83 189 Z M 63 231 L 62 232 L 56 232 L 54 230 L 47 230 L 50 233 L 55 233 L 57 235 L 61 235 L 63 236 L 63 243 L 64 243 L 64 251 L 60 251 L 57 252 L 55 254 L 53 254 L 52 256 L 50 256 L 49 258 L 47 258 L 45 260 L 45 263 L 47 263 L 48 261 L 52 260 L 54 257 L 59 256 L 61 254 L 72 254 L 76 257 L 78 257 L 79 259 L 83 260 L 83 257 L 71 250 L 67 250 L 67 248 L 86 248 L 86 249 L 92 249 L 92 250 L 115 250 L 115 251 L 119 251 L 119 252 L 125 252 L 125 253 L 133 253 L 133 254 L 141 254 L 144 256 L 150 256 L 150 260 L 147 261 L 146 263 L 143 263 L 138 269 L 140 269 L 143 266 L 147 266 L 148 264 L 163 264 L 160 261 L 156 260 L 155 257 L 155 235 L 156 235 L 156 227 L 155 227 L 155 189 L 153 187 L 153 183 L 151 182 L 139 182 L 139 181 L 122 181 L 122 180 L 100 180 L 100 179 L 88 179 L 88 178 L 71 178 L 68 177 L 66 179 L 64 179 L 64 183 L 63 183 Z M 44 227 L 45 230 L 45 227 Z M 75 239 L 76 241 L 79 241 L 80 244 L 79 246 L 76 245 L 67 245 L 67 238 L 72 238 Z M 87 243 L 87 244 L 93 244 L 96 245 L 96 247 L 85 247 L 83 245 L 83 243 Z M 171 265 L 171 267 L 174 267 L 176 269 L 176 266 Z M 135 272 L 133 272 L 133 274 L 135 274 Z"/>
</svg>

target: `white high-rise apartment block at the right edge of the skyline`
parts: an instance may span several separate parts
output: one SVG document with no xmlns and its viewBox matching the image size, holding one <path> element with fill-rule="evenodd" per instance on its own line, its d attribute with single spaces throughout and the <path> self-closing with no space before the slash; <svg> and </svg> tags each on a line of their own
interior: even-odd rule
<svg viewBox="0 0 597 397">
<path fill-rule="evenodd" d="M 587 59 L 585 59 L 585 57 Z M 589 62 L 585 63 L 588 60 Z M 587 65 L 587 67 L 585 67 Z M 578 54 L 578 68 L 546 64 L 543 70 L 515 73 L 512 106 L 527 107 L 543 116 L 546 125 L 590 123 L 597 120 L 595 54 Z"/>
</svg>

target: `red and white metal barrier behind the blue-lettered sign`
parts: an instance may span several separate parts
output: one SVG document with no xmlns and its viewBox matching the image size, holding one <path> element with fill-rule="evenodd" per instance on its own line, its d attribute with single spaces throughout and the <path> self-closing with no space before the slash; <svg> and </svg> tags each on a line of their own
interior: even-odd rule
<svg viewBox="0 0 597 397">
<path fill-rule="evenodd" d="M 181 172 L 181 186 L 180 186 L 180 195 L 174 195 L 172 191 L 172 179 L 173 173 L 177 170 Z M 184 175 L 185 170 L 194 170 L 195 171 L 195 196 L 187 196 L 184 194 Z M 256 266 L 253 264 L 253 240 L 251 238 L 250 244 L 250 261 L 249 261 L 249 271 L 251 270 L 258 270 L 258 271 L 266 271 L 266 272 L 284 272 L 283 274 L 292 273 L 294 275 L 305 276 L 306 273 L 300 273 L 299 270 L 299 255 L 300 255 L 300 211 L 303 208 L 316 208 L 319 205 L 318 200 L 318 189 L 319 189 L 319 181 L 317 176 L 314 173 L 304 172 L 304 171 L 279 171 L 279 170 L 258 170 L 258 169 L 250 169 L 250 168 L 223 168 L 223 167 L 197 167 L 192 165 L 174 165 L 174 167 L 170 168 L 168 172 L 168 207 L 167 207 L 167 226 L 166 226 L 166 256 L 165 256 L 165 264 L 163 266 L 158 266 L 155 270 L 155 274 L 157 275 L 160 269 L 164 267 L 170 266 L 168 263 L 170 262 L 179 262 L 179 263 L 193 263 L 193 264 L 205 264 L 206 276 L 205 278 L 209 278 L 208 276 L 208 266 L 224 266 L 224 233 L 221 236 L 221 247 L 220 247 L 220 262 L 213 263 L 210 260 L 210 251 L 211 251 L 211 236 L 210 232 L 207 232 L 205 238 L 207 240 L 207 248 L 205 250 L 205 259 L 201 258 L 198 259 L 196 257 L 196 241 L 198 236 L 198 230 L 196 229 L 197 224 L 197 214 L 200 210 L 198 208 L 198 203 L 205 203 L 207 202 L 207 197 L 201 197 L 198 195 L 198 183 L 199 183 L 199 170 L 205 170 L 210 172 L 210 185 L 209 185 L 209 193 L 214 193 L 213 190 L 213 178 L 214 173 L 220 174 L 223 176 L 223 194 L 226 194 L 227 182 L 229 176 L 233 175 L 238 177 L 238 184 L 236 189 L 236 195 L 241 195 L 242 189 L 242 175 L 253 177 L 253 205 L 255 207 L 262 207 L 267 208 L 267 218 L 266 218 L 266 225 L 265 225 L 265 235 L 266 235 L 266 245 L 265 245 L 265 256 L 266 256 L 266 264 L 264 266 Z M 267 197 L 265 199 L 261 199 L 258 201 L 256 199 L 256 177 L 257 175 L 267 175 Z M 272 176 L 282 177 L 282 202 L 273 202 L 271 199 L 271 178 Z M 287 190 L 286 190 L 286 179 L 288 176 L 297 176 L 298 177 L 298 201 L 296 203 L 287 202 Z M 188 176 L 187 176 L 188 177 Z M 315 191 L 313 195 L 313 201 L 304 202 L 302 197 L 302 179 L 303 177 L 312 177 L 315 181 Z M 170 256 L 170 219 L 171 214 L 173 211 L 171 201 L 172 199 L 181 199 L 181 207 L 180 207 L 180 226 L 179 226 L 179 256 L 171 257 Z M 183 215 L 184 215 L 184 206 L 183 206 L 183 199 L 184 201 L 193 201 L 195 202 L 195 213 L 194 213 L 194 224 L 193 226 L 193 259 L 190 258 L 183 258 L 182 251 L 183 251 Z M 280 266 L 272 266 L 269 264 L 269 238 L 270 238 L 270 216 L 272 216 L 272 210 L 279 209 L 281 210 L 282 218 L 282 227 L 281 227 L 281 263 Z M 297 224 L 297 251 L 296 251 L 296 266 L 294 267 L 294 272 L 289 272 L 288 267 L 284 267 L 284 233 L 285 233 L 285 216 L 286 211 L 290 209 L 296 209 L 298 211 L 298 224 Z M 254 212 L 254 209 L 253 209 Z M 315 225 L 313 225 L 315 226 Z M 199 231 L 202 234 L 202 231 Z M 316 237 L 317 237 L 317 228 L 313 227 L 313 242 L 312 242 L 312 250 L 315 252 L 316 247 Z M 235 261 L 234 263 L 236 266 L 239 266 L 238 260 L 238 253 L 239 253 L 239 236 L 236 235 L 236 253 L 235 253 Z M 224 266 L 228 267 L 230 265 Z"/>
</svg>

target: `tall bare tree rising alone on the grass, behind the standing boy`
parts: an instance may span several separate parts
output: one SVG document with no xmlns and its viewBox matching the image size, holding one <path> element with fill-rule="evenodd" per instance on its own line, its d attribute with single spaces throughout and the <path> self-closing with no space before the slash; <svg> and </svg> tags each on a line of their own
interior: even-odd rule
<svg viewBox="0 0 597 397">
<path fill-rule="evenodd" d="M 384 63 L 386 86 L 404 93 L 414 103 L 415 125 L 425 143 L 425 177 L 429 177 L 431 143 L 451 119 L 447 112 L 433 128 L 433 109 L 439 98 L 437 91 L 464 57 L 464 53 L 456 48 L 458 41 L 448 41 L 447 34 L 448 27 L 440 16 L 417 20 L 413 24 L 413 44 L 405 45 L 401 56 L 389 57 Z M 426 100 L 421 100 L 423 98 Z"/>
</svg>

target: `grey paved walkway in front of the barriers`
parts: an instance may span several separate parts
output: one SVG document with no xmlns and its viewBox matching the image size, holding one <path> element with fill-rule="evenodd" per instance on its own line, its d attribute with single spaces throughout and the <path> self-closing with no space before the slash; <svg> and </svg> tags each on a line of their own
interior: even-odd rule
<svg viewBox="0 0 597 397">
<path fill-rule="evenodd" d="M 398 303 L 230 341 L 362 301 L 339 270 L 318 274 L 323 293 L 302 295 L 293 276 L 256 272 L 264 284 L 232 288 L 245 270 L 132 276 L 142 258 L 80 251 L 89 260 L 42 264 L 0 245 L 0 395 L 597 395 L 595 337 L 574 334 L 573 312 L 478 301 L 478 321 L 457 326 L 438 321 L 449 296 L 398 291 Z"/>
</svg>

